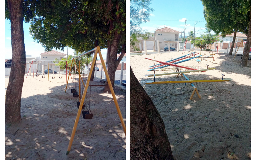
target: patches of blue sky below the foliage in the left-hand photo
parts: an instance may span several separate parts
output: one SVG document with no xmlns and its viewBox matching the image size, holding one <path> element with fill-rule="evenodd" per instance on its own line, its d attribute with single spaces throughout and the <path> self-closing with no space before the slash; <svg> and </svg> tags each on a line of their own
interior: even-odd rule
<svg viewBox="0 0 256 160">
<path fill-rule="evenodd" d="M 31 55 L 32 57 L 37 57 L 37 54 L 43 53 L 44 47 L 34 42 L 34 39 L 29 34 L 29 26 L 30 23 L 25 23 L 23 21 L 23 28 L 24 28 L 24 40 L 25 40 L 25 50 L 26 55 Z M 10 20 L 5 20 L 4 22 L 4 59 L 11 59 L 12 58 L 12 44 L 11 44 L 11 22 Z M 55 50 L 55 49 L 53 49 Z M 64 51 L 57 50 L 58 52 L 67 54 L 67 47 L 65 47 Z M 101 50 L 103 59 L 106 59 L 107 56 L 107 49 Z M 74 55 L 74 50 L 68 48 L 68 54 Z M 97 59 L 100 59 L 99 55 Z"/>
</svg>

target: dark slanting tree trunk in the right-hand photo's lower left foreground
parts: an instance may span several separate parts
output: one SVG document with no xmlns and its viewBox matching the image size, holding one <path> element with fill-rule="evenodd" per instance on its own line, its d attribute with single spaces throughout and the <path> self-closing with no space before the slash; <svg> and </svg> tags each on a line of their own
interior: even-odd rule
<svg viewBox="0 0 256 160">
<path fill-rule="evenodd" d="M 164 122 L 130 66 L 130 159 L 175 160 Z"/>
</svg>

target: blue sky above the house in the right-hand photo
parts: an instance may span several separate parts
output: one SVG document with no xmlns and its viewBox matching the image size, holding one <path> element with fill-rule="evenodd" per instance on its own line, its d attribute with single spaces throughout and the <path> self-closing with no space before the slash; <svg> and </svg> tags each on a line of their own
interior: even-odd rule
<svg viewBox="0 0 256 160">
<path fill-rule="evenodd" d="M 185 36 L 188 36 L 191 30 L 194 32 L 195 21 L 200 21 L 196 24 L 196 36 L 205 34 L 204 7 L 200 0 L 153 0 L 149 7 L 155 11 L 151 14 L 149 22 L 140 25 L 143 30 L 154 32 L 157 28 L 168 27 L 181 32 L 184 31 L 187 20 Z M 182 35 L 184 36 L 184 33 Z"/>
</svg>

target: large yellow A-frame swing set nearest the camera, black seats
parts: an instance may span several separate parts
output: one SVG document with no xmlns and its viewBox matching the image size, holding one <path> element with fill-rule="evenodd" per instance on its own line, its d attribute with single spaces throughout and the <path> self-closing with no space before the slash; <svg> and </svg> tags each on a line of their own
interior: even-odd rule
<svg viewBox="0 0 256 160">
<path fill-rule="evenodd" d="M 91 79 L 91 76 L 92 76 L 93 69 L 90 69 L 89 74 L 88 74 L 89 68 L 87 68 L 86 83 L 84 84 L 84 76 L 83 77 L 81 76 L 81 65 L 80 65 L 81 64 L 81 56 L 89 54 L 89 53 L 92 53 L 92 52 L 94 52 L 94 55 L 93 55 L 92 65 L 91 66 L 94 66 L 94 64 L 96 63 L 96 60 L 97 60 L 97 55 L 99 54 L 102 67 L 104 69 L 104 72 L 105 72 L 105 75 L 106 75 L 106 79 L 108 81 L 108 86 L 109 86 L 110 92 L 112 94 L 112 97 L 113 97 L 113 100 L 114 100 L 114 103 L 115 103 L 115 106 L 116 106 L 116 110 L 117 110 L 119 119 L 120 119 L 122 127 L 124 129 L 124 134 L 126 133 L 124 120 L 123 120 L 123 117 L 122 117 L 122 114 L 121 114 L 118 102 L 116 100 L 115 92 L 114 92 L 113 86 L 112 86 L 112 84 L 110 82 L 110 78 L 108 76 L 107 68 L 105 66 L 105 62 L 104 62 L 103 57 L 102 57 L 101 52 L 100 52 L 100 47 L 97 46 L 97 47 L 95 47 L 94 49 L 92 49 L 92 50 L 90 50 L 88 52 L 82 53 L 82 54 L 74 57 L 72 59 L 72 61 L 71 61 L 70 68 L 72 68 L 72 65 L 73 65 L 73 62 L 74 62 L 75 63 L 75 68 L 78 71 L 78 92 L 76 92 L 77 88 L 74 87 L 74 84 L 73 84 L 73 87 L 71 89 L 71 92 L 73 92 L 73 94 L 75 92 L 78 95 L 77 97 L 79 98 L 79 101 L 77 102 L 78 111 L 77 111 L 76 120 L 75 120 L 73 131 L 72 131 L 72 134 L 71 134 L 71 137 L 70 137 L 70 141 L 69 141 L 69 144 L 68 144 L 68 149 L 67 149 L 66 155 L 68 155 L 69 152 L 70 152 L 70 149 L 71 149 L 71 146 L 72 146 L 72 143 L 73 143 L 73 140 L 74 140 L 75 132 L 76 132 L 76 127 L 77 127 L 77 124 L 78 124 L 81 112 L 83 114 L 83 118 L 84 119 L 92 119 L 93 114 L 92 114 L 92 112 L 90 110 L 91 87 L 92 86 L 106 86 L 106 85 L 92 85 L 92 84 L 90 84 L 90 79 Z M 76 58 L 78 58 L 78 67 L 77 67 L 76 62 L 75 62 Z M 69 79 L 69 76 L 71 76 L 71 72 L 69 72 L 69 74 L 68 74 L 68 79 Z M 74 79 L 76 79 L 76 78 L 74 78 Z M 81 82 L 82 82 L 82 90 L 81 90 Z M 74 80 L 74 83 L 75 83 L 75 80 Z M 76 83 L 77 83 L 77 79 L 76 79 Z M 67 87 L 68 87 L 68 80 L 67 80 L 67 85 L 66 85 L 65 92 L 67 91 Z M 86 93 L 87 93 L 88 87 L 90 87 L 90 93 L 89 93 L 90 96 L 89 96 L 89 107 L 87 108 L 87 104 L 86 104 L 87 96 L 86 96 Z M 81 91 L 83 91 L 82 96 L 81 96 Z M 85 104 L 84 104 L 84 100 L 85 100 Z M 85 110 L 85 108 L 87 110 Z M 82 111 L 82 109 L 84 109 L 84 110 Z"/>
</svg>

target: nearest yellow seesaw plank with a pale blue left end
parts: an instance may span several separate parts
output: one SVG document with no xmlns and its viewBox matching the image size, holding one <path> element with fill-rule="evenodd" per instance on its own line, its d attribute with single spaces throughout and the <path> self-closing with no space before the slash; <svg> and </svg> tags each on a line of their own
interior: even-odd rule
<svg viewBox="0 0 256 160">
<path fill-rule="evenodd" d="M 169 83 L 198 83 L 198 82 L 228 82 L 232 79 L 226 78 L 222 79 L 209 79 L 209 80 L 189 80 L 189 81 L 140 81 L 140 83 L 146 84 L 169 84 Z"/>
</svg>

